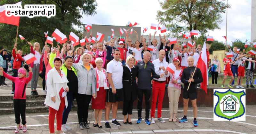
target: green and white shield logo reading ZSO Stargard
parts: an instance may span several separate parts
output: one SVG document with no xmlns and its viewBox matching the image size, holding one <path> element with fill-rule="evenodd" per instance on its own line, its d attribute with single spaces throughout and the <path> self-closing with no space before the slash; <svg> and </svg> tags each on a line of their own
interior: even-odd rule
<svg viewBox="0 0 256 134">
<path fill-rule="evenodd" d="M 245 121 L 245 89 L 214 89 L 214 121 Z"/>
</svg>

